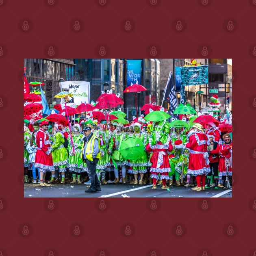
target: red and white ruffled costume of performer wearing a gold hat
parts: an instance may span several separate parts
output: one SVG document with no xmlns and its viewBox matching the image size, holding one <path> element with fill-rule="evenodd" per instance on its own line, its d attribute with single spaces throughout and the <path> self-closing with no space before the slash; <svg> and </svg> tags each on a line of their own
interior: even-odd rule
<svg viewBox="0 0 256 256">
<path fill-rule="evenodd" d="M 197 176 L 210 172 L 208 145 L 210 145 L 208 137 L 203 132 L 196 132 L 189 137 L 189 142 L 185 145 L 189 149 L 188 174 Z"/>
</svg>

